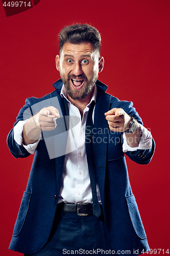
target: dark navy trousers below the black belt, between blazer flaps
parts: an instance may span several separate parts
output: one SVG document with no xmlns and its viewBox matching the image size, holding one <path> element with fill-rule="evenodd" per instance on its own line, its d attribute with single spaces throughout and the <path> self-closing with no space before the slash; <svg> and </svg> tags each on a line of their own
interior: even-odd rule
<svg viewBox="0 0 170 256">
<path fill-rule="evenodd" d="M 103 217 L 94 215 L 78 216 L 62 211 L 63 203 L 57 209 L 50 239 L 34 256 L 60 255 L 102 255 L 112 250 L 105 230 Z"/>
</svg>

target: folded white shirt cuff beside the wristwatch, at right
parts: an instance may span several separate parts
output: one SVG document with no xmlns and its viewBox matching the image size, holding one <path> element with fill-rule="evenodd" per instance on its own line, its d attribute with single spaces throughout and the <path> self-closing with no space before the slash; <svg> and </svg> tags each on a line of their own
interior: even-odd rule
<svg viewBox="0 0 170 256">
<path fill-rule="evenodd" d="M 123 139 L 124 139 L 124 143 L 123 143 L 123 152 L 127 152 L 127 151 L 136 151 L 136 150 L 148 150 L 149 148 L 151 148 L 152 146 L 152 135 L 151 132 L 149 132 L 143 125 L 140 125 L 141 128 L 141 137 L 140 137 L 140 141 L 139 141 L 139 145 L 138 147 L 131 147 L 126 139 L 125 133 L 123 134 Z"/>
</svg>

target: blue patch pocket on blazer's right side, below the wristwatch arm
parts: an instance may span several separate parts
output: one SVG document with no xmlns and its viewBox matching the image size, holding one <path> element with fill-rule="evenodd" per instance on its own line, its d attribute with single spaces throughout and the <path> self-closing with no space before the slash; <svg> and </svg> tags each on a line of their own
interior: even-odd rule
<svg viewBox="0 0 170 256">
<path fill-rule="evenodd" d="M 132 225 L 137 236 L 141 239 L 147 238 L 134 195 L 126 197 L 126 200 L 128 204 L 129 215 L 132 221 Z"/>
</svg>

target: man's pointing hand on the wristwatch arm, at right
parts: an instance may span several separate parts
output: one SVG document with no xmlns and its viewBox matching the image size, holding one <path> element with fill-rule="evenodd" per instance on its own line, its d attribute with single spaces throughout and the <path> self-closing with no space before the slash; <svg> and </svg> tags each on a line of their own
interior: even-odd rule
<svg viewBox="0 0 170 256">
<path fill-rule="evenodd" d="M 105 116 L 111 131 L 123 133 L 129 129 L 131 117 L 123 109 L 111 109 Z"/>
</svg>

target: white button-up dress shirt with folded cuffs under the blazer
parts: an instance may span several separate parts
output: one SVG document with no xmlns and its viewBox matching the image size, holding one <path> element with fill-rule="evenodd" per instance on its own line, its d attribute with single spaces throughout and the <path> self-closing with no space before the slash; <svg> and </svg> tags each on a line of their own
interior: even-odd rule
<svg viewBox="0 0 170 256">
<path fill-rule="evenodd" d="M 97 89 L 96 89 L 96 86 L 94 86 L 94 92 L 92 94 L 91 101 L 92 100 L 96 101 L 96 94 L 97 94 Z M 84 109 L 83 117 L 81 118 L 79 109 L 67 99 L 64 86 L 61 89 L 61 97 L 65 97 L 68 102 L 69 116 L 79 117 L 80 122 L 75 127 L 72 127 L 72 129 L 68 131 L 66 153 L 67 152 L 69 153 L 65 155 L 62 184 L 61 184 L 60 195 L 59 195 L 59 203 L 62 201 L 68 202 L 68 203 L 81 203 L 81 202 L 92 203 L 92 193 L 91 193 L 90 177 L 88 172 L 86 147 L 85 147 L 86 118 L 87 118 L 87 113 L 88 113 L 91 101 Z M 94 120 L 94 111 L 93 111 L 92 119 Z M 22 145 L 23 147 L 25 147 L 30 154 L 34 154 L 41 136 L 33 144 L 23 145 L 21 134 L 23 131 L 23 126 L 26 122 L 27 120 L 19 121 L 15 125 L 14 140 L 19 145 Z M 141 135 L 138 147 L 130 147 L 127 143 L 125 134 L 123 134 L 123 137 L 124 137 L 123 152 L 136 151 L 138 149 L 145 150 L 151 147 L 151 140 L 152 140 L 151 133 L 147 129 L 145 129 L 141 124 L 140 124 L 140 127 L 142 131 L 142 135 Z M 98 184 L 96 184 L 96 191 L 97 191 L 99 203 L 101 203 Z"/>
</svg>

